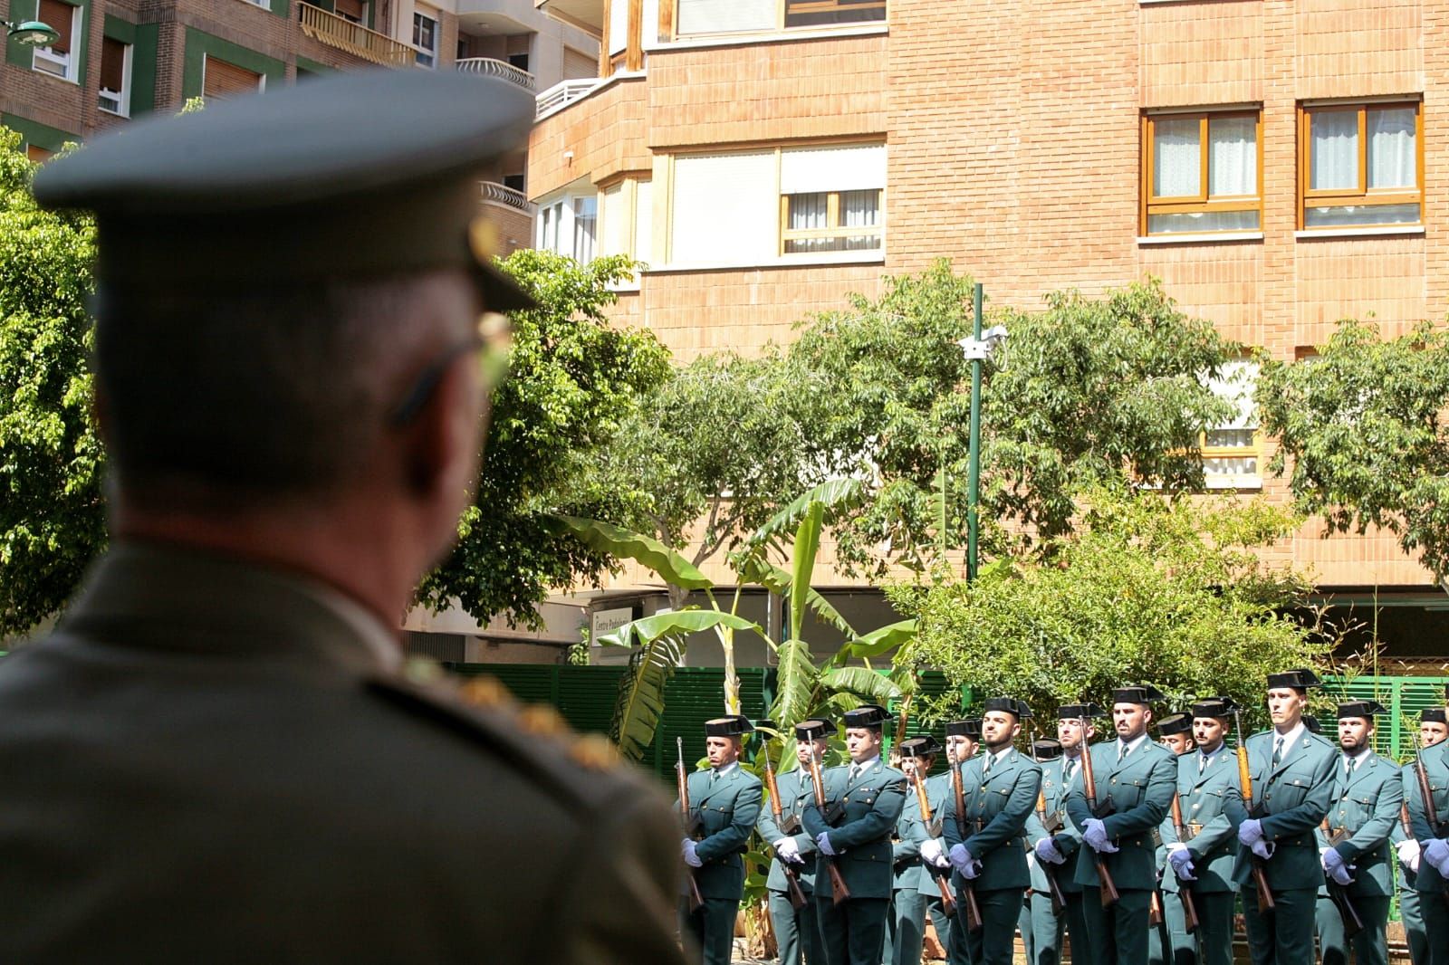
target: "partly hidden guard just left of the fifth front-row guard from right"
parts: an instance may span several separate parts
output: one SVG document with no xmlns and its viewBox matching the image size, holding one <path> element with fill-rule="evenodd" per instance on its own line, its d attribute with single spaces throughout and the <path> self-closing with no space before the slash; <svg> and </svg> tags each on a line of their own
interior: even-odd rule
<svg viewBox="0 0 1449 965">
<path fill-rule="evenodd" d="M 1072 949 L 1082 949 L 1075 955 L 1081 961 L 1087 961 L 1088 956 L 1087 913 L 1082 910 L 1082 887 L 1077 882 L 1077 862 L 1082 861 L 1084 855 L 1082 836 L 1081 829 L 1072 824 L 1066 813 L 1066 791 L 1074 781 L 1081 780 L 1082 752 L 1097 736 L 1093 722 L 1101 716 L 1101 707 L 1091 703 L 1062 704 L 1058 709 L 1056 742 L 1062 745 L 1062 758 L 1059 762 L 1042 766 L 1046 822 L 1037 820 L 1035 814 L 1026 822 L 1027 839 L 1036 852 L 1036 861 L 1043 862 L 1040 884 L 1046 884 L 1045 866 L 1051 865 L 1056 869 L 1056 884 L 1066 898 L 1066 908 L 1055 916 L 1055 922 L 1045 916 L 1032 916 L 1033 949 L 1037 958 L 1051 955 L 1051 962 L 1046 965 L 1062 959 L 1064 930 L 1071 937 Z M 1037 881 L 1035 874 L 1032 881 Z"/>
</svg>

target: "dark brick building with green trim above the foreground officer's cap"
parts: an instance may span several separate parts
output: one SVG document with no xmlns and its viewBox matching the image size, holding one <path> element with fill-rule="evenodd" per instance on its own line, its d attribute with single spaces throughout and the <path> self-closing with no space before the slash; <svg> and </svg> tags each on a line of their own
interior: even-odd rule
<svg viewBox="0 0 1449 965">
<path fill-rule="evenodd" d="M 529 0 L 0 0 L 0 10 L 61 35 L 42 49 L 12 41 L 0 65 L 0 123 L 20 132 L 32 159 L 190 97 L 329 71 L 465 70 L 535 93 L 597 72 L 597 41 Z M 513 248 L 532 233 L 525 177 L 520 151 L 480 188 Z"/>
</svg>

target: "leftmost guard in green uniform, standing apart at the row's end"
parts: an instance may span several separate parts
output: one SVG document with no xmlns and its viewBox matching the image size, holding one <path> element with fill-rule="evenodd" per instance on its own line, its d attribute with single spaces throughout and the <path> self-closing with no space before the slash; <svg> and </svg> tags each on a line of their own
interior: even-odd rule
<svg viewBox="0 0 1449 965">
<path fill-rule="evenodd" d="M 735 946 L 735 919 L 745 894 L 745 853 L 749 835 L 759 820 L 759 778 L 739 766 L 745 735 L 755 727 L 740 714 L 704 723 L 704 753 L 710 766 L 688 778 L 690 826 L 685 837 L 685 874 L 694 877 L 703 904 L 691 908 L 690 895 L 680 897 L 680 935 L 690 936 L 704 965 L 729 965 Z M 675 809 L 680 803 L 675 801 Z"/>
</svg>

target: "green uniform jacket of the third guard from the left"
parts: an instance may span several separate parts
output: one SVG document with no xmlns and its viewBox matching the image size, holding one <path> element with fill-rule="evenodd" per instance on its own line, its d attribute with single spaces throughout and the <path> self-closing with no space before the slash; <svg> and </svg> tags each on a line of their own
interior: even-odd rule
<svg viewBox="0 0 1449 965">
<path fill-rule="evenodd" d="M 852 898 L 891 897 L 891 830 L 906 807 L 906 775 L 895 768 L 875 764 L 848 781 L 849 766 L 830 768 L 823 775 L 824 810 L 840 804 L 835 826 L 826 824 L 819 807 L 806 807 L 806 832 L 816 836 L 829 832 L 830 848 L 836 853 L 836 868 Z M 814 788 L 810 790 L 814 804 Z M 822 853 L 816 862 L 816 894 L 830 895 L 830 875 Z"/>
</svg>

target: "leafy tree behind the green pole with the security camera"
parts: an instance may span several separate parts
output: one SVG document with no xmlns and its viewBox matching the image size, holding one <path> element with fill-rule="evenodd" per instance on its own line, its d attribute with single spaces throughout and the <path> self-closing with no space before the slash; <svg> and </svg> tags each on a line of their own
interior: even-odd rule
<svg viewBox="0 0 1449 965">
<path fill-rule="evenodd" d="M 920 571 L 964 543 L 971 367 L 956 342 L 971 335 L 971 287 L 938 261 L 814 317 L 788 351 L 810 465 L 871 481 L 872 498 L 835 527 L 853 572 Z M 1009 332 L 982 387 L 988 549 L 1007 549 L 994 523 L 1053 546 L 1084 487 L 1201 485 L 1198 433 L 1230 412 L 1204 377 L 1235 348 L 1156 281 L 1101 300 L 1058 293 L 1045 312 L 997 309 L 987 322 Z"/>
</svg>

